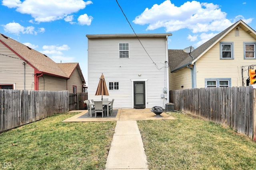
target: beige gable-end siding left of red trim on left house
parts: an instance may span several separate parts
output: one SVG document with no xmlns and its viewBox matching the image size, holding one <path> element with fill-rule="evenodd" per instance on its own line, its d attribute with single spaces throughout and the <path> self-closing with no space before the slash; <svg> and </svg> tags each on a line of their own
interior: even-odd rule
<svg viewBox="0 0 256 170">
<path fill-rule="evenodd" d="M 34 90 L 34 68 L 0 43 L 0 84 L 14 84 L 16 90 Z"/>
</svg>

